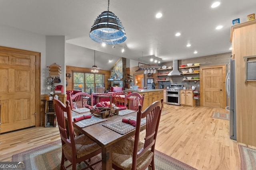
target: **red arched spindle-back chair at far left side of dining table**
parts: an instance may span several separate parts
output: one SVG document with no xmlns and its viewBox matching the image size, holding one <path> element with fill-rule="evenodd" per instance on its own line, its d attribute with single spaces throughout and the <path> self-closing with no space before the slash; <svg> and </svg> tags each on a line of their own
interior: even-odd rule
<svg viewBox="0 0 256 170">
<path fill-rule="evenodd" d="M 69 100 L 70 100 L 69 102 L 70 102 L 71 109 L 78 109 L 78 108 L 85 107 L 88 104 L 89 100 L 90 100 L 90 105 L 93 106 L 92 93 L 88 94 L 85 92 L 78 92 L 73 96 L 71 96 L 71 93 L 69 93 L 68 95 L 69 95 Z"/>
</svg>

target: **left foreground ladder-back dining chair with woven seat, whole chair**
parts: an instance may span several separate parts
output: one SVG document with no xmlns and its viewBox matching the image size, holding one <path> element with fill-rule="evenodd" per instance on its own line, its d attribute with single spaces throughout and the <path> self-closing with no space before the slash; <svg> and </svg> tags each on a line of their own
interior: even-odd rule
<svg viewBox="0 0 256 170">
<path fill-rule="evenodd" d="M 54 99 L 54 109 L 56 112 L 56 117 L 58 120 L 58 127 L 60 130 L 60 138 L 62 143 L 62 156 L 61 156 L 61 170 L 66 169 L 72 165 L 72 170 L 76 170 L 76 164 L 80 162 L 85 162 L 88 166 L 84 169 L 91 168 L 95 164 L 98 164 L 100 161 L 95 162 L 94 164 L 88 164 L 86 160 L 90 160 L 93 156 L 101 153 L 101 147 L 92 141 L 90 138 L 85 135 L 80 135 L 74 137 L 72 116 L 71 116 L 71 107 L 69 101 L 66 101 L 66 106 L 60 100 Z M 64 117 L 64 112 L 67 114 L 67 123 L 68 129 L 66 128 L 66 121 Z M 69 132 L 69 138 L 67 131 Z M 64 166 L 64 161 L 67 159 L 71 162 L 67 167 Z"/>
</svg>

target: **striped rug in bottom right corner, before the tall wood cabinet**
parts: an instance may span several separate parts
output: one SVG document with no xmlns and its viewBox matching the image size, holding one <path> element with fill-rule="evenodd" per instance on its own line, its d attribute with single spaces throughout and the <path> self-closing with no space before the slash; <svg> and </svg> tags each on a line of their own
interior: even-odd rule
<svg viewBox="0 0 256 170">
<path fill-rule="evenodd" d="M 238 145 L 241 170 L 256 170 L 256 150 Z"/>
</svg>

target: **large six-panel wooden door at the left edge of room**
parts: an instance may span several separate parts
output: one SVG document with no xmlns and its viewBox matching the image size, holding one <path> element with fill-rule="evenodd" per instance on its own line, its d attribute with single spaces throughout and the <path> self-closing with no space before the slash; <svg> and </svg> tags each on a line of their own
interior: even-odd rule
<svg viewBox="0 0 256 170">
<path fill-rule="evenodd" d="M 29 51 L 25 54 L 3 49 L 0 48 L 1 133 L 36 125 L 38 87 L 38 56 L 29 54 Z"/>
</svg>

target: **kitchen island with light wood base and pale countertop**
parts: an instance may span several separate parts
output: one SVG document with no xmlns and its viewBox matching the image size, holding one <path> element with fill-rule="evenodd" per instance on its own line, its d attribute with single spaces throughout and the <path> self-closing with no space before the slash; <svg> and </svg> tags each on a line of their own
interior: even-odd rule
<svg viewBox="0 0 256 170">
<path fill-rule="evenodd" d="M 141 90 L 124 90 L 123 92 L 136 92 L 139 94 L 145 94 L 142 110 L 145 110 L 150 104 L 155 101 L 160 101 L 164 98 L 164 89 L 141 89 Z"/>
</svg>

